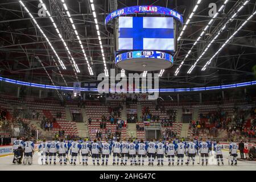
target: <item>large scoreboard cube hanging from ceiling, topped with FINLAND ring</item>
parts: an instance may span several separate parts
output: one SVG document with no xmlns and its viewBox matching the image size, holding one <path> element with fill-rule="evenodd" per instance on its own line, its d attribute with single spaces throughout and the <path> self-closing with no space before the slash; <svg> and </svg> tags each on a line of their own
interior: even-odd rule
<svg viewBox="0 0 256 182">
<path fill-rule="evenodd" d="M 182 16 L 160 6 L 131 6 L 106 16 L 115 34 L 115 65 L 130 71 L 158 71 L 174 63 L 177 22 Z"/>
</svg>

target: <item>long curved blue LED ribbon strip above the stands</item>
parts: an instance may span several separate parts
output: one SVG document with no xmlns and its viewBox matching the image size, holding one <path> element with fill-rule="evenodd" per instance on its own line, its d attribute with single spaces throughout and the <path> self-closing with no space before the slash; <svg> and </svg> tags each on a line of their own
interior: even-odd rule
<svg viewBox="0 0 256 182">
<path fill-rule="evenodd" d="M 68 86 L 55 86 L 55 85 L 43 85 L 43 84 L 34 84 L 31 82 L 25 81 L 18 81 L 9 78 L 0 77 L 0 81 L 9 82 L 11 84 L 16 85 L 25 85 L 25 86 L 33 86 L 38 88 L 46 88 L 46 89 L 57 89 L 57 90 L 73 90 L 73 87 Z M 148 91 L 159 91 L 159 92 L 193 92 L 193 91 L 200 91 L 200 90 L 220 90 L 220 89 L 227 89 L 227 88 L 237 88 L 242 86 L 251 86 L 256 85 L 256 81 L 248 81 L 242 82 L 238 84 L 228 84 L 228 85 L 217 85 L 217 86 L 207 86 L 207 87 L 199 87 L 199 88 L 177 88 L 177 89 L 149 89 Z M 135 89 L 137 90 L 137 89 Z M 88 88 L 81 88 L 81 91 L 92 91 L 97 92 L 97 89 L 88 89 Z"/>
</svg>

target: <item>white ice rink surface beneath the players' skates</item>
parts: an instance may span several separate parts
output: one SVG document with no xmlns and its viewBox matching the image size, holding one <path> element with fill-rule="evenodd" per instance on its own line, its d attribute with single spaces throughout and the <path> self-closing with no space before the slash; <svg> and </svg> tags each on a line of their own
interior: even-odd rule
<svg viewBox="0 0 256 182">
<path fill-rule="evenodd" d="M 214 155 L 209 156 L 209 162 L 208 166 L 201 166 L 197 164 L 199 162 L 199 156 L 196 156 L 196 162 L 195 166 L 192 166 L 192 162 L 189 164 L 189 166 L 186 166 L 183 164 L 183 166 L 177 166 L 176 161 L 177 158 L 175 158 L 175 166 L 168 166 L 168 159 L 164 158 L 164 166 L 156 166 L 157 161 L 155 160 L 154 166 L 147 166 L 147 158 L 145 159 L 144 166 L 130 166 L 130 161 L 128 160 L 127 166 L 113 166 L 113 160 L 112 156 L 109 158 L 109 164 L 108 166 L 93 166 L 92 158 L 89 158 L 88 166 L 82 166 L 82 164 L 79 164 L 77 162 L 76 166 L 72 166 L 71 164 L 67 164 L 67 166 L 60 166 L 59 164 L 59 158 L 56 158 L 56 165 L 42 165 L 41 163 L 41 154 L 39 152 L 35 152 L 33 156 L 33 164 L 31 166 L 24 165 L 24 164 L 13 164 L 13 155 L 5 156 L 0 158 L 0 171 L 6 171 L 6 170 L 24 170 L 24 171 L 43 171 L 43 170 L 51 170 L 51 171 L 190 171 L 190 170 L 196 170 L 196 171 L 213 171 L 213 170 L 219 170 L 219 171 L 243 171 L 243 170 L 249 170 L 249 171 L 256 171 L 256 162 L 255 161 L 239 161 L 237 166 L 229 166 L 228 164 L 228 151 L 224 151 L 224 166 L 217 166 L 217 160 L 214 159 Z M 239 155 L 239 154 L 238 154 Z M 238 156 L 239 157 L 239 156 Z M 71 159 L 71 156 L 69 156 L 69 160 Z M 78 160 L 78 158 L 77 158 Z M 80 158 L 81 160 L 81 158 Z M 184 157 L 184 163 L 187 162 L 187 156 Z M 53 162 L 52 162 L 53 163 Z M 101 164 L 101 159 L 100 159 Z"/>
</svg>

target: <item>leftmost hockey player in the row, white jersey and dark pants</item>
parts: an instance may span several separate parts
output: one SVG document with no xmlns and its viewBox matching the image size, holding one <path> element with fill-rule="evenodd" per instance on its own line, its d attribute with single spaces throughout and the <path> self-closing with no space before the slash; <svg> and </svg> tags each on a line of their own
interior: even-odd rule
<svg viewBox="0 0 256 182">
<path fill-rule="evenodd" d="M 13 152 L 14 152 L 13 163 L 14 164 L 22 163 L 23 148 L 24 148 L 23 140 L 21 140 L 19 137 L 17 137 L 17 139 L 14 140 L 14 142 L 13 142 Z"/>
</svg>

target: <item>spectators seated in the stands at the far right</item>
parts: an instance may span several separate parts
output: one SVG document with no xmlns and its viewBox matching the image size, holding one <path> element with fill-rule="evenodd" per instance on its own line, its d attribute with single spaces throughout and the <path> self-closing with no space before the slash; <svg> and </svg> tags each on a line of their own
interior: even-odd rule
<svg viewBox="0 0 256 182">
<path fill-rule="evenodd" d="M 233 108 L 232 117 L 228 112 L 223 111 L 218 107 L 217 111 L 209 112 L 208 114 L 200 113 L 200 119 L 191 121 L 191 129 L 194 135 L 199 135 L 199 131 L 203 134 L 218 136 L 219 129 L 224 129 L 228 138 L 238 139 L 241 137 L 255 138 L 255 108 L 250 109 L 250 126 L 246 126 L 247 111 L 243 109 Z"/>
</svg>

